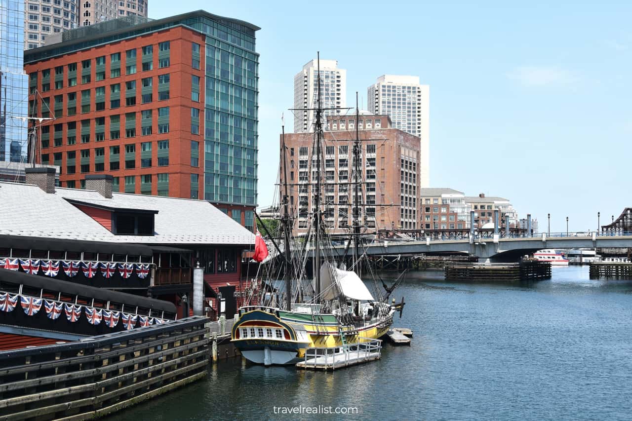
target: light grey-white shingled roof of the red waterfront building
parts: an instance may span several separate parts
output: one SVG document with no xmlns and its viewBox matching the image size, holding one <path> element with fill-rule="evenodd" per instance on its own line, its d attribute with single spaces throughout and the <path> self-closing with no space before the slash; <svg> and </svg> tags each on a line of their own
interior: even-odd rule
<svg viewBox="0 0 632 421">
<path fill-rule="evenodd" d="M 157 210 L 153 236 L 114 235 L 67 199 L 116 209 Z M 0 182 L 0 235 L 143 244 L 249 245 L 255 236 L 205 200 Z"/>
</svg>

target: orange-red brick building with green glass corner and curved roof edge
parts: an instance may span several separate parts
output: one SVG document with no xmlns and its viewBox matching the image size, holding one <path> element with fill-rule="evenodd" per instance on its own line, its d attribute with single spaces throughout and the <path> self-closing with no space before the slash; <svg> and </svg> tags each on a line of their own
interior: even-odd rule
<svg viewBox="0 0 632 421">
<path fill-rule="evenodd" d="M 138 23 L 140 21 L 140 23 Z M 61 186 L 204 198 L 246 228 L 257 205 L 259 28 L 195 11 L 78 28 L 25 53 L 36 161 Z"/>
</svg>

